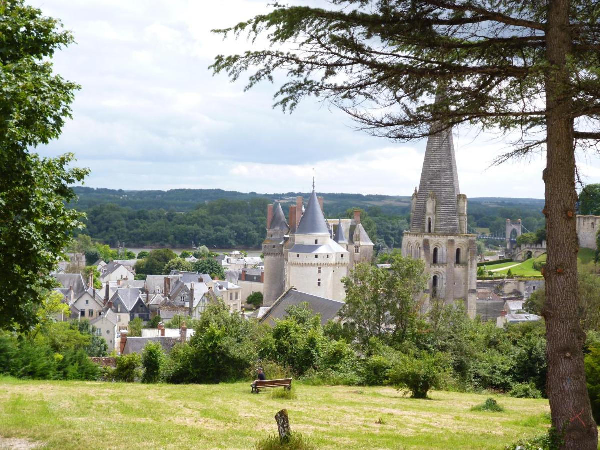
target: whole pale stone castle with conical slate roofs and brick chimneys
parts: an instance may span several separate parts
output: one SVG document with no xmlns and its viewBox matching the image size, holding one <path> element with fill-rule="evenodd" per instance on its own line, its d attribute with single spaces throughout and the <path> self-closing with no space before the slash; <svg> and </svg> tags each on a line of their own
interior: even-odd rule
<svg viewBox="0 0 600 450">
<path fill-rule="evenodd" d="M 323 198 L 314 191 L 304 208 L 304 197 L 290 206 L 289 222 L 280 203 L 267 209 L 265 293 L 263 305 L 271 306 L 286 290 L 332 300 L 346 298 L 341 279 L 355 263 L 373 259 L 373 242 L 361 224 L 361 214 L 352 220 L 328 221 Z"/>
</svg>

